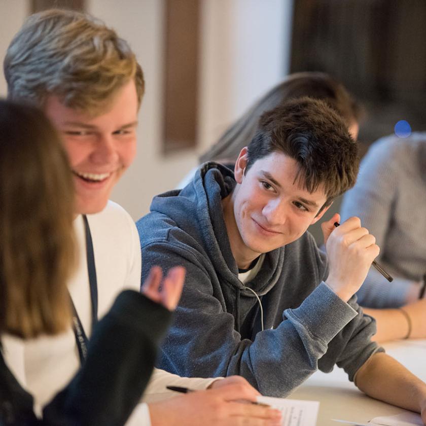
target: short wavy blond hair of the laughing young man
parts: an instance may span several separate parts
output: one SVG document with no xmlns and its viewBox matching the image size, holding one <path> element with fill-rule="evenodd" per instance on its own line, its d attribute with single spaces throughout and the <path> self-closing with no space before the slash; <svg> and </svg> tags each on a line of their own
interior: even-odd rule
<svg viewBox="0 0 426 426">
<path fill-rule="evenodd" d="M 28 17 L 4 61 L 10 99 L 43 107 L 54 94 L 69 108 L 96 115 L 134 79 L 138 104 L 144 77 L 128 43 L 94 17 L 51 9 Z"/>
</svg>

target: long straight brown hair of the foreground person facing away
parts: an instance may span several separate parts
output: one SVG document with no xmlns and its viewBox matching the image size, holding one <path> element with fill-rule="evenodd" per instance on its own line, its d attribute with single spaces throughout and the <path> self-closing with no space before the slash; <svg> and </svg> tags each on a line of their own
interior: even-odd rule
<svg viewBox="0 0 426 426">
<path fill-rule="evenodd" d="M 0 332 L 56 334 L 70 325 L 74 187 L 42 112 L 0 100 Z"/>
</svg>

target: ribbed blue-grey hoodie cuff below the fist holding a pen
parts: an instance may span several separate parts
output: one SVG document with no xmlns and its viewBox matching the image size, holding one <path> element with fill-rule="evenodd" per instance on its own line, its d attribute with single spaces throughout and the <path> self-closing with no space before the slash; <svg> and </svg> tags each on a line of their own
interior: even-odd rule
<svg viewBox="0 0 426 426">
<path fill-rule="evenodd" d="M 298 308 L 286 309 L 284 315 L 295 319 L 311 335 L 328 343 L 358 312 L 323 281 Z"/>
</svg>

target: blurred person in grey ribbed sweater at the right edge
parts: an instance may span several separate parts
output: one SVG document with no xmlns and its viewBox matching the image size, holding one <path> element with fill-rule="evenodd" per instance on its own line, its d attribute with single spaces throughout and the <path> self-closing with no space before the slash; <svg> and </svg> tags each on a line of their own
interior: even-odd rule
<svg viewBox="0 0 426 426">
<path fill-rule="evenodd" d="M 426 337 L 426 134 L 376 141 L 341 215 L 361 218 L 381 248 L 378 261 L 394 276 L 388 282 L 371 268 L 357 293 L 365 312 L 385 325 L 376 338 Z"/>
</svg>

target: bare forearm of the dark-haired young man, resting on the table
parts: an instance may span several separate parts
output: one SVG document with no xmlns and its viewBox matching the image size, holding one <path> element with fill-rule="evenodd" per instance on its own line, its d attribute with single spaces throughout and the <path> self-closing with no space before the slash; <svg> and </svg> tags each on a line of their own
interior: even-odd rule
<svg viewBox="0 0 426 426">
<path fill-rule="evenodd" d="M 358 370 L 356 385 L 372 398 L 418 413 L 426 401 L 426 383 L 385 353 L 375 353 Z"/>
</svg>

